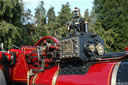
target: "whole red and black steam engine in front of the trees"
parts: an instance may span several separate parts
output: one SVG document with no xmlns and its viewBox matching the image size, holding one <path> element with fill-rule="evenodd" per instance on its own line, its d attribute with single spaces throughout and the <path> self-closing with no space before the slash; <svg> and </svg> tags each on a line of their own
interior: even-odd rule
<svg viewBox="0 0 128 85">
<path fill-rule="evenodd" d="M 74 10 L 69 36 L 0 52 L 0 85 L 128 85 L 128 52 L 106 54 L 104 41 Z"/>
</svg>

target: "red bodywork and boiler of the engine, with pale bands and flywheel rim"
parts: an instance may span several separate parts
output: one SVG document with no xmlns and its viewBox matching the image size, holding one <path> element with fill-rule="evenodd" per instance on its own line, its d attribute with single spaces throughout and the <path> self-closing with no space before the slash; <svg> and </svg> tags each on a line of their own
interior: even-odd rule
<svg viewBox="0 0 128 85">
<path fill-rule="evenodd" d="M 54 45 L 49 44 L 49 49 L 59 49 L 59 40 L 53 37 L 43 37 L 35 46 L 23 46 L 21 49 L 10 49 L 8 52 L 0 52 L 0 61 L 2 57 L 6 56 L 9 67 L 6 69 L 4 63 L 0 64 L 0 69 L 3 71 L 8 70 L 5 75 L 5 80 L 9 85 L 114 85 L 116 83 L 117 67 L 120 62 L 102 62 L 96 63 L 89 67 L 85 74 L 72 74 L 61 75 L 61 66 L 55 63 L 50 68 L 42 71 L 32 71 L 32 69 L 41 69 L 36 65 L 40 62 L 35 62 L 34 65 L 29 63 L 27 57 L 37 56 L 37 53 L 30 54 L 37 50 L 37 47 L 44 44 L 46 39 L 51 39 L 55 42 Z M 45 49 L 45 48 L 44 48 Z M 12 53 L 15 53 L 16 60 L 12 58 Z M 4 56 L 3 56 L 4 54 Z M 29 54 L 29 55 L 28 55 Z M 42 52 L 42 55 L 47 54 Z M 36 58 L 29 59 L 30 61 L 38 60 Z M 14 62 L 15 61 L 15 62 Z M 13 62 L 13 63 L 10 63 Z M 49 67 L 49 63 L 53 62 L 52 59 L 45 57 L 44 67 Z"/>
</svg>

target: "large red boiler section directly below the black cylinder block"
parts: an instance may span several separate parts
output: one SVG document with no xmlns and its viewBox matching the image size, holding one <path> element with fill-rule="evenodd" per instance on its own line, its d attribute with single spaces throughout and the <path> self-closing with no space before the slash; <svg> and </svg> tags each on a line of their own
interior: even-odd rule
<svg viewBox="0 0 128 85">
<path fill-rule="evenodd" d="M 60 75 L 56 85 L 110 85 L 115 63 L 99 63 L 90 67 L 85 75 Z"/>
</svg>

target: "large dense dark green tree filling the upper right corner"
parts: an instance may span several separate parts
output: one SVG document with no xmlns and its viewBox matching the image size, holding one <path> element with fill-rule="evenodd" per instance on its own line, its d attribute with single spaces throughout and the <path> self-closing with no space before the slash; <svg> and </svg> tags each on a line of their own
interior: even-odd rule
<svg viewBox="0 0 128 85">
<path fill-rule="evenodd" d="M 112 30 L 117 36 L 113 35 L 111 48 L 113 51 L 124 50 L 124 47 L 128 46 L 128 34 L 126 24 L 128 20 L 128 3 L 127 0 L 95 0 L 94 10 L 96 13 L 97 21 L 101 23 L 101 27 L 105 32 Z M 125 34 L 124 34 L 125 33 Z M 108 45 L 110 42 L 108 42 Z"/>
</svg>

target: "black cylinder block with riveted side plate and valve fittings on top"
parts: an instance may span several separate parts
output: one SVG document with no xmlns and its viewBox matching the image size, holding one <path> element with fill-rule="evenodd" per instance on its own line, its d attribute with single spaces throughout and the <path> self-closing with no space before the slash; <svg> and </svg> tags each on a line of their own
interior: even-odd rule
<svg viewBox="0 0 128 85">
<path fill-rule="evenodd" d="M 104 41 L 97 35 L 89 32 L 89 24 L 79 18 L 79 9 L 75 8 L 73 22 L 68 22 L 69 36 L 61 42 L 61 59 L 79 58 L 82 61 L 94 59 L 104 55 Z"/>
</svg>

